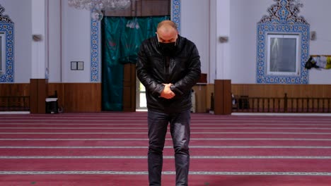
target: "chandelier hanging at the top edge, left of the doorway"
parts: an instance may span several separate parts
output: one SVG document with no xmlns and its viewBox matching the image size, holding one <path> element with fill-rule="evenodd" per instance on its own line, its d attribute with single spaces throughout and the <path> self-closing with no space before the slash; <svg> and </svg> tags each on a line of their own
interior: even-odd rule
<svg viewBox="0 0 331 186">
<path fill-rule="evenodd" d="M 102 11 L 121 10 L 129 8 L 131 0 L 68 0 L 71 7 L 91 11 L 93 20 L 103 19 Z"/>
</svg>

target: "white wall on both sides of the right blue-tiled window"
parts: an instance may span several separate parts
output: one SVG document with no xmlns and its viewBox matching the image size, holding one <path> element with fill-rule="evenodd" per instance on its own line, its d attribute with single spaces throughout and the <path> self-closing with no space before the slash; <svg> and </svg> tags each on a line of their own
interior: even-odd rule
<svg viewBox="0 0 331 186">
<path fill-rule="evenodd" d="M 298 13 L 310 23 L 310 30 L 318 39 L 310 41 L 310 54 L 331 54 L 330 18 L 327 14 L 331 1 L 301 0 L 303 8 Z M 272 0 L 231 0 L 231 80 L 232 83 L 256 82 L 256 30 L 262 16 L 269 16 L 267 8 Z M 331 70 L 310 70 L 309 84 L 330 84 Z"/>
</svg>

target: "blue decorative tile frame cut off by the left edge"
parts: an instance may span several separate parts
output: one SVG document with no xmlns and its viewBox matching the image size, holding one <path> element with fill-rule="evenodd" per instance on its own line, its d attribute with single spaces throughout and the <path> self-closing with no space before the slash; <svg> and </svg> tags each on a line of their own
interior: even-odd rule
<svg viewBox="0 0 331 186">
<path fill-rule="evenodd" d="M 8 17 L 4 16 L 5 9 L 0 5 L 0 32 L 4 32 L 6 35 L 6 58 L 5 70 L 0 74 L 0 82 L 13 82 L 14 77 L 14 23 Z"/>
</svg>

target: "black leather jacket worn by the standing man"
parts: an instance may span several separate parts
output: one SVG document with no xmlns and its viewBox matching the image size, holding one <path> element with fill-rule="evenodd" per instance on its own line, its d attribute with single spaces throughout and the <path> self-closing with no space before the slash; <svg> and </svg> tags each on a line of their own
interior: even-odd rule
<svg viewBox="0 0 331 186">
<path fill-rule="evenodd" d="M 158 47 L 157 37 L 142 42 L 137 61 L 137 76 L 146 87 L 147 108 L 151 111 L 178 112 L 191 109 L 191 91 L 201 73 L 197 46 L 178 35 L 177 51 L 165 57 Z M 167 63 L 168 58 L 168 63 Z M 172 83 L 173 99 L 160 97 L 163 83 Z"/>
</svg>

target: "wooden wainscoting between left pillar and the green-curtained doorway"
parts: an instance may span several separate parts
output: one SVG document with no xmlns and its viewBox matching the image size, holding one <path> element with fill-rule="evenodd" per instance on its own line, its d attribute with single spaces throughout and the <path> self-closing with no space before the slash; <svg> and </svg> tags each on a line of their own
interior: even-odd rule
<svg viewBox="0 0 331 186">
<path fill-rule="evenodd" d="M 55 91 L 64 112 L 101 111 L 101 83 L 49 83 L 48 94 Z"/>
</svg>

